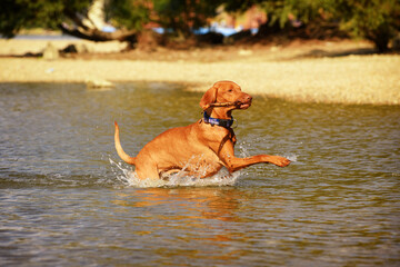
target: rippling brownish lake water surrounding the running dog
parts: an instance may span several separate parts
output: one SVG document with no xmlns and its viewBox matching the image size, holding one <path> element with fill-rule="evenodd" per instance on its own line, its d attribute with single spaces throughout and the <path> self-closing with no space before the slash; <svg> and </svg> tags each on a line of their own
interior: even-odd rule
<svg viewBox="0 0 400 267">
<path fill-rule="evenodd" d="M 256 96 L 233 113 L 237 154 L 289 167 L 134 181 L 113 120 L 136 155 L 201 118 L 200 98 L 163 83 L 1 83 L 0 265 L 399 266 L 400 107 Z"/>
</svg>

